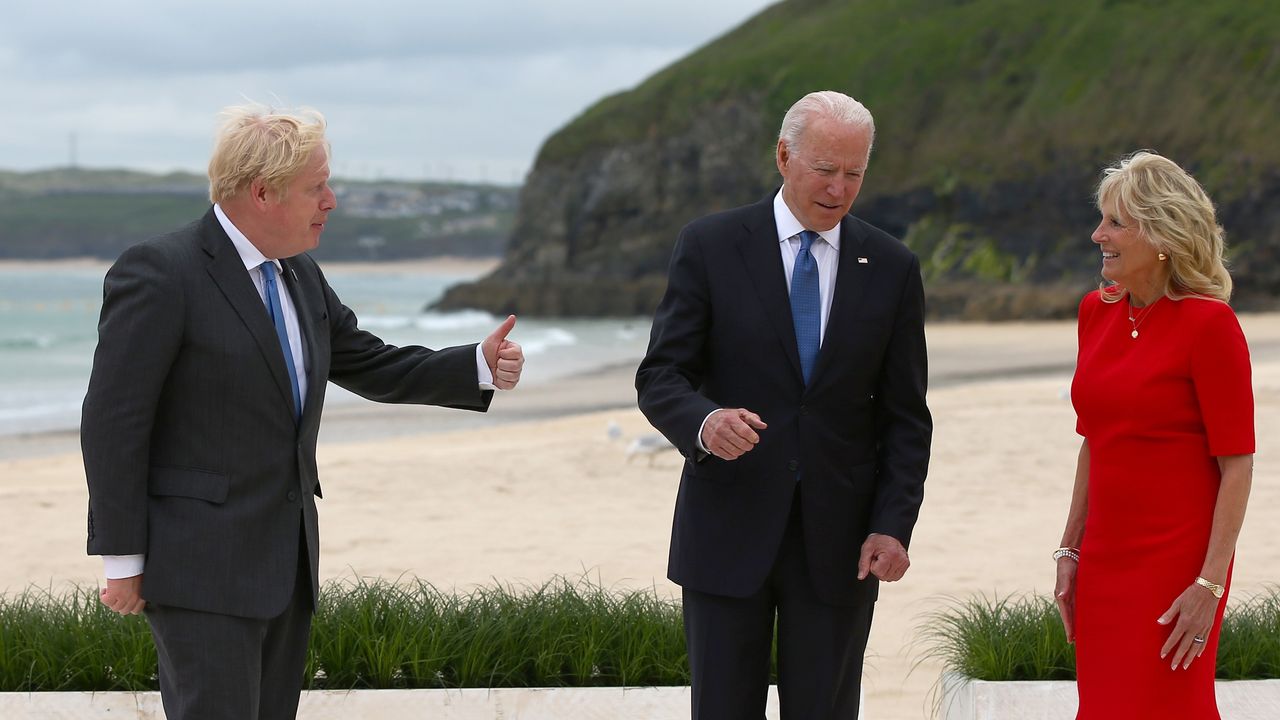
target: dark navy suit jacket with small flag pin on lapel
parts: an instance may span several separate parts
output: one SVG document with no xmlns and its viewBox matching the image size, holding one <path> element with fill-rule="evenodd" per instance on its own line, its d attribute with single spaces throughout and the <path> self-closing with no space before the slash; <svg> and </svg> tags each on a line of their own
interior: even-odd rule
<svg viewBox="0 0 1280 720">
<path fill-rule="evenodd" d="M 874 601 L 856 579 L 869 533 L 908 546 L 924 496 L 924 291 L 915 255 L 846 215 L 814 374 L 800 373 L 773 196 L 681 231 L 649 350 L 640 409 L 685 456 L 668 577 L 746 597 L 764 583 L 795 486 L 810 577 L 829 603 Z M 703 419 L 745 407 L 768 429 L 737 460 L 696 450 Z"/>
</svg>

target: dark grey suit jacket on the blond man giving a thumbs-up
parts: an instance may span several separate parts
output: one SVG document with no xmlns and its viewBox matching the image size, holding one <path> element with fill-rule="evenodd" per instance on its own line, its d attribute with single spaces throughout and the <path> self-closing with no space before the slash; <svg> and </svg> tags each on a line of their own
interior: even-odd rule
<svg viewBox="0 0 1280 720">
<path fill-rule="evenodd" d="M 81 445 L 88 552 L 146 553 L 148 602 L 271 618 L 320 546 L 326 380 L 381 402 L 486 410 L 475 346 L 394 347 L 356 327 L 307 255 L 283 261 L 307 359 L 294 423 L 284 354 L 212 209 L 128 249 L 104 283 Z"/>
</svg>

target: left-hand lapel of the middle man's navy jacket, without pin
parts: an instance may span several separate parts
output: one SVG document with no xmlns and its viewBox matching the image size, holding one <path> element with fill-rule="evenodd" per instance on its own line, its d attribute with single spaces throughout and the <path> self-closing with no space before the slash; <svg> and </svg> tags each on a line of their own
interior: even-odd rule
<svg viewBox="0 0 1280 720">
<path fill-rule="evenodd" d="M 800 372 L 800 351 L 796 348 L 796 328 L 791 320 L 791 293 L 787 291 L 787 275 L 782 269 L 782 256 L 778 250 L 778 224 L 773 219 L 773 196 L 756 205 L 756 211 L 746 220 L 742 242 L 739 251 L 746 264 L 748 275 L 764 306 L 764 316 L 791 360 L 796 378 Z"/>
</svg>

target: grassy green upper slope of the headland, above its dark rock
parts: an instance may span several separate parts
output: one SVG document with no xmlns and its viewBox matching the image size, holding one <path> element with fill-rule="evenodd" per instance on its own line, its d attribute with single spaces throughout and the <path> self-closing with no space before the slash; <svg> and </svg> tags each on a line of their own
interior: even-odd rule
<svg viewBox="0 0 1280 720">
<path fill-rule="evenodd" d="M 595 104 L 540 160 L 678 133 L 740 95 L 760 97 L 760 129 L 776 133 L 820 88 L 876 115 L 874 193 L 1138 147 L 1247 192 L 1242 168 L 1280 165 L 1280 3 L 791 0 Z M 772 145 L 760 152 L 768 160 Z M 773 177 L 771 163 L 762 174 Z"/>
</svg>

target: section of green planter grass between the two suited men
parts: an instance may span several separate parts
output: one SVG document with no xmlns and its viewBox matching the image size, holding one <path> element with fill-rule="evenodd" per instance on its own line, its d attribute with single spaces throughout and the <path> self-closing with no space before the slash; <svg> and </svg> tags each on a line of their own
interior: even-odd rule
<svg viewBox="0 0 1280 720">
<path fill-rule="evenodd" d="M 680 606 L 554 579 L 447 593 L 417 580 L 326 587 L 311 688 L 686 685 Z"/>
</svg>

